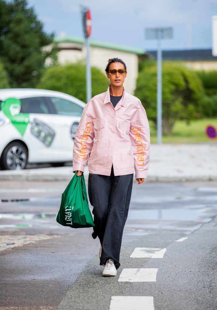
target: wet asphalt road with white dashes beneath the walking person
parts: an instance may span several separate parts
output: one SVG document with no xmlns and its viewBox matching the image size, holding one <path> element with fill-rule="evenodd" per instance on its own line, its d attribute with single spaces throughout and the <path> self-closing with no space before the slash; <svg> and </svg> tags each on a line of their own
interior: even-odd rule
<svg viewBox="0 0 217 310">
<path fill-rule="evenodd" d="M 92 229 L 55 220 L 66 185 L 0 182 L 0 310 L 216 310 L 216 182 L 134 183 L 108 278 Z"/>
</svg>

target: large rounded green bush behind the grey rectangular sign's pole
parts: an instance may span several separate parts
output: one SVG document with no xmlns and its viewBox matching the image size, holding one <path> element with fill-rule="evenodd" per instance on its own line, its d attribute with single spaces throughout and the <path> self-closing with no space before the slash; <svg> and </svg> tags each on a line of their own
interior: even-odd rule
<svg viewBox="0 0 217 310">
<path fill-rule="evenodd" d="M 147 66 L 138 74 L 135 95 L 141 99 L 147 116 L 157 123 L 157 72 L 156 65 Z M 195 72 L 175 64 L 162 66 L 162 131 L 172 133 L 176 120 L 201 116 L 203 87 Z"/>
</svg>

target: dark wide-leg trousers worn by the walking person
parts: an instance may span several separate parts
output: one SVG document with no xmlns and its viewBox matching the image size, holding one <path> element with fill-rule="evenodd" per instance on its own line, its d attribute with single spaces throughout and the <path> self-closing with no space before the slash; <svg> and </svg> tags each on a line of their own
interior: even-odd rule
<svg viewBox="0 0 217 310">
<path fill-rule="evenodd" d="M 95 227 L 92 237 L 99 237 L 102 254 L 100 265 L 113 259 L 116 269 L 120 267 L 120 250 L 123 228 L 127 220 L 133 174 L 114 176 L 89 174 L 88 194 L 93 206 Z"/>
</svg>

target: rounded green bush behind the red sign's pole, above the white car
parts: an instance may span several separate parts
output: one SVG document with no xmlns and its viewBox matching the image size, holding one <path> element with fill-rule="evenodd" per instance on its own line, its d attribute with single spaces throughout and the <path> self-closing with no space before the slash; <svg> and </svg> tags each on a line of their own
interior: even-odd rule
<svg viewBox="0 0 217 310">
<path fill-rule="evenodd" d="M 92 96 L 107 90 L 109 81 L 98 68 L 91 68 Z M 47 68 L 37 88 L 62 91 L 86 102 L 85 65 L 81 63 Z"/>
</svg>

